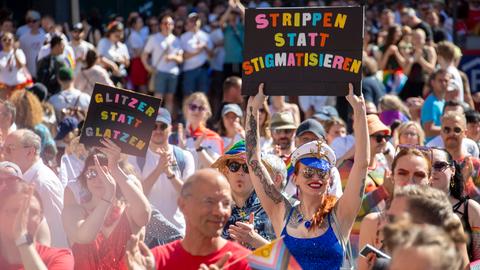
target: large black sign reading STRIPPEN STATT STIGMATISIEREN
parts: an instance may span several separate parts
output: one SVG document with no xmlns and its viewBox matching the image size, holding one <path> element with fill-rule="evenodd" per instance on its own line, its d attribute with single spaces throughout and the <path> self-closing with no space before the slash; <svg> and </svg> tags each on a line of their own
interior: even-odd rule
<svg viewBox="0 0 480 270">
<path fill-rule="evenodd" d="M 242 94 L 359 94 L 362 45 L 362 7 L 247 9 Z"/>
</svg>

